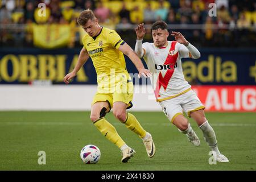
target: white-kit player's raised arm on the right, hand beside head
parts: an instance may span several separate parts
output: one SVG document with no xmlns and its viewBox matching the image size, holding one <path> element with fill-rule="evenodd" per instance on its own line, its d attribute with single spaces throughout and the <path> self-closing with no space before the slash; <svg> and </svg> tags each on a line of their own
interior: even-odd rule
<svg viewBox="0 0 256 182">
<path fill-rule="evenodd" d="M 193 59 L 199 59 L 199 57 L 201 56 L 199 50 L 195 46 L 193 46 L 191 43 L 189 43 L 180 32 L 172 31 L 171 35 L 174 36 L 175 40 L 178 43 L 183 44 L 185 46 L 179 49 L 179 51 L 181 52 L 181 55 L 189 55 L 189 52 L 190 52 Z M 183 56 L 183 57 L 188 57 L 188 56 Z"/>
</svg>

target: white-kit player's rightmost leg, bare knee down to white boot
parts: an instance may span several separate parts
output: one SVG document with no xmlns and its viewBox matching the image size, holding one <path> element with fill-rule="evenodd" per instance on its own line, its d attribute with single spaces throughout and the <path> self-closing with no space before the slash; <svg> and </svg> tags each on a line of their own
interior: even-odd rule
<svg viewBox="0 0 256 182">
<path fill-rule="evenodd" d="M 205 142 L 208 143 L 213 154 L 216 155 L 218 162 L 229 162 L 225 155 L 221 154 L 217 147 L 217 139 L 212 126 L 205 118 L 204 110 L 198 110 L 191 113 L 191 118 L 195 119 L 199 128 L 203 131 Z"/>
</svg>

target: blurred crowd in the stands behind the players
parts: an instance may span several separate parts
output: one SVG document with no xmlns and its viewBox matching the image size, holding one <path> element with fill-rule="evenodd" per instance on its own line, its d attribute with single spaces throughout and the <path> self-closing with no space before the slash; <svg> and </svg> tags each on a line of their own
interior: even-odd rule
<svg viewBox="0 0 256 182">
<path fill-rule="evenodd" d="M 46 5 L 45 16 L 38 14 L 39 3 Z M 209 11 L 214 14 L 211 9 L 215 6 L 209 7 L 210 3 L 216 5 L 216 16 L 209 16 Z M 146 24 L 144 40 L 152 41 L 150 26 L 162 19 L 170 31 L 180 31 L 195 46 L 256 47 L 254 0 L 0 0 L 0 44 L 33 47 L 34 26 L 54 24 L 55 29 L 59 26 L 70 29 L 65 47 L 81 47 L 84 32 L 76 19 L 88 8 L 94 11 L 101 26 L 116 30 L 130 46 L 135 44 L 137 24 Z M 46 39 L 48 34 L 51 31 L 46 31 Z"/>
</svg>

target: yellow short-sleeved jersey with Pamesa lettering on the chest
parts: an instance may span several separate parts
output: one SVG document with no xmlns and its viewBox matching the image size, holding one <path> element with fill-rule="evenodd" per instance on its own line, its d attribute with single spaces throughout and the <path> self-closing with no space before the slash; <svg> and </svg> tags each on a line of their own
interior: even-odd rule
<svg viewBox="0 0 256 182">
<path fill-rule="evenodd" d="M 121 51 L 118 51 L 125 42 L 114 30 L 102 27 L 96 37 L 86 34 L 82 38 L 82 43 L 93 61 L 97 76 L 101 74 L 110 76 L 113 72 L 111 69 L 114 69 L 115 73 L 127 72 L 125 57 Z"/>
</svg>

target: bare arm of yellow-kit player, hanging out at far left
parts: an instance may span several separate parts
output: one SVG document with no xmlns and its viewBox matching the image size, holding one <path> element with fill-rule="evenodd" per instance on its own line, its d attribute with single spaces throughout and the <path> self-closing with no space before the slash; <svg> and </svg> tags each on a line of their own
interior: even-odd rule
<svg viewBox="0 0 256 182">
<path fill-rule="evenodd" d="M 76 66 L 75 68 L 73 69 L 72 72 L 68 73 L 63 81 L 65 82 L 65 84 L 69 84 L 69 81 L 76 76 L 76 73 L 80 70 L 80 68 L 82 67 L 82 65 L 84 65 L 86 63 L 86 61 L 88 60 L 89 58 L 89 54 L 88 52 L 86 51 L 86 49 L 82 48 L 81 51 L 80 51 L 80 54 L 79 54 L 79 58 L 78 58 L 78 61 L 76 63 Z"/>
</svg>

